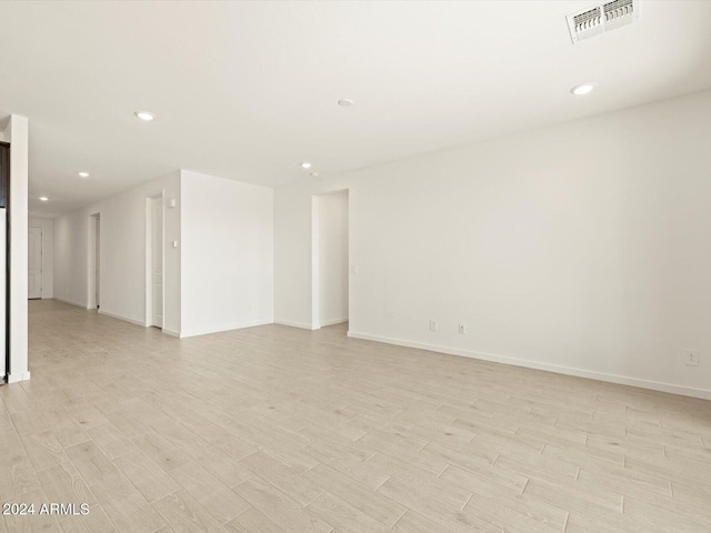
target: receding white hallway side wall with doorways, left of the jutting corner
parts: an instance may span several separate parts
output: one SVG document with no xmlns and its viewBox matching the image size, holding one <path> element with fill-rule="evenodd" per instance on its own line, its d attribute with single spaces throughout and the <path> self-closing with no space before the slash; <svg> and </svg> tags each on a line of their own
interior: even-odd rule
<svg viewBox="0 0 711 533">
<path fill-rule="evenodd" d="M 180 174 L 168 174 L 54 220 L 54 298 L 89 304 L 89 217 L 101 214 L 101 313 L 146 324 L 146 199 L 163 193 L 166 210 L 164 330 L 180 333 Z"/>
</svg>

